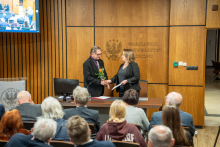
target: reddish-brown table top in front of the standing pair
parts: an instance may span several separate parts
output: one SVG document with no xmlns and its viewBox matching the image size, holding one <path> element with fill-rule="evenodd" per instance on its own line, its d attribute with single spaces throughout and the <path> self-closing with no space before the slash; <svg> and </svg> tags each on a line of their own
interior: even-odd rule
<svg viewBox="0 0 220 147">
<path fill-rule="evenodd" d="M 143 97 L 139 98 L 139 102 L 135 107 L 139 108 L 157 108 L 160 109 L 163 104 L 163 98 L 148 98 L 148 100 L 141 100 Z M 111 103 L 115 99 L 121 99 L 119 97 L 112 97 L 107 100 L 89 100 L 87 107 L 110 107 Z M 146 98 L 145 98 L 146 99 Z M 75 106 L 73 101 L 63 102 L 62 99 L 59 100 L 62 106 Z"/>
</svg>

